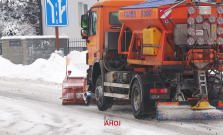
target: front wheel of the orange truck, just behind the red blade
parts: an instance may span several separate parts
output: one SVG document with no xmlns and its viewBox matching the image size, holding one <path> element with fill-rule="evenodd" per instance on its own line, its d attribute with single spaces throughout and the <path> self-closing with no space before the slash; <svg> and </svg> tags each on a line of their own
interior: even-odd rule
<svg viewBox="0 0 223 135">
<path fill-rule="evenodd" d="M 97 104 L 98 110 L 106 111 L 108 108 L 112 107 L 113 98 L 104 96 L 101 75 L 98 76 L 97 81 L 96 81 L 95 96 L 96 96 L 96 104 Z"/>
</svg>

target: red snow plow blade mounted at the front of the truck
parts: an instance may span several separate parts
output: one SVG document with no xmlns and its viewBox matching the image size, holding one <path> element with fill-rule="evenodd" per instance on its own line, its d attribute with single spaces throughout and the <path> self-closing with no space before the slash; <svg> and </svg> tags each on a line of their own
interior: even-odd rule
<svg viewBox="0 0 223 135">
<path fill-rule="evenodd" d="M 62 104 L 90 104 L 91 94 L 86 91 L 86 78 L 65 77 L 62 84 Z"/>
</svg>

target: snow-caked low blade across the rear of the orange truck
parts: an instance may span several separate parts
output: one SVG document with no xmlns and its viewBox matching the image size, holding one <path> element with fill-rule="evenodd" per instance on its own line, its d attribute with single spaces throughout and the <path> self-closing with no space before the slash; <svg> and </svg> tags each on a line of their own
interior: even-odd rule
<svg viewBox="0 0 223 135">
<path fill-rule="evenodd" d="M 196 102 L 158 102 L 157 119 L 161 121 L 223 119 L 223 102 L 201 103 L 200 108 L 195 107 L 198 104 Z"/>
</svg>

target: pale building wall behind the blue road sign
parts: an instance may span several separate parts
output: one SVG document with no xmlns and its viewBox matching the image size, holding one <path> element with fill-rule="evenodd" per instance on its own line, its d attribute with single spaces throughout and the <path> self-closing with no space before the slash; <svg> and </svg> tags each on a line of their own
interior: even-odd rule
<svg viewBox="0 0 223 135">
<path fill-rule="evenodd" d="M 60 27 L 59 34 L 66 35 L 70 39 L 81 38 L 81 15 L 86 13 L 90 7 L 98 0 L 68 0 L 69 26 Z M 55 35 L 54 27 L 46 27 L 45 23 L 45 3 L 42 2 L 43 35 Z"/>
</svg>

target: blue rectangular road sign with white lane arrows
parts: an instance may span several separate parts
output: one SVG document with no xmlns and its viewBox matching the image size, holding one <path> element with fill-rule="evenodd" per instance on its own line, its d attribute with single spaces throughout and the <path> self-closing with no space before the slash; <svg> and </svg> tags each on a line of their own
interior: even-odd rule
<svg viewBox="0 0 223 135">
<path fill-rule="evenodd" d="M 67 0 L 45 0 L 46 26 L 68 26 Z"/>
</svg>

